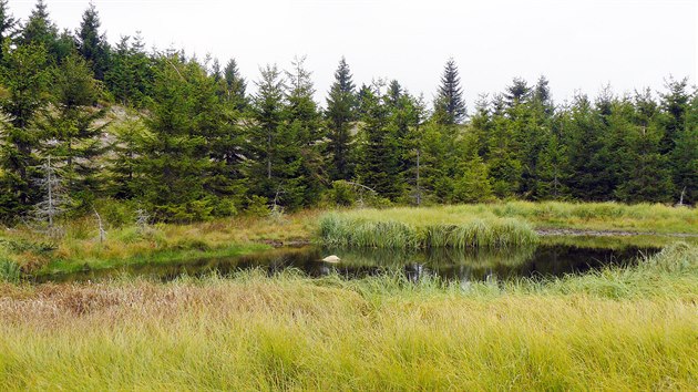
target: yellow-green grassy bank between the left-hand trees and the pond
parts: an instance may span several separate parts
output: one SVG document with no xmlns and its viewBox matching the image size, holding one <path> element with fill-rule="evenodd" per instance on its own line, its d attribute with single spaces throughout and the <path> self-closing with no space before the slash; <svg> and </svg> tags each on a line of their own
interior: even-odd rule
<svg viewBox="0 0 698 392">
<path fill-rule="evenodd" d="M 54 238 L 27 227 L 0 235 L 0 256 L 18 264 L 27 274 L 70 272 L 144 262 L 179 262 L 185 259 L 237 256 L 269 248 L 269 244 L 306 240 L 315 212 L 281 219 L 235 217 L 191 225 L 107 227 L 100 241 L 91 217 L 63 225 Z"/>
</svg>

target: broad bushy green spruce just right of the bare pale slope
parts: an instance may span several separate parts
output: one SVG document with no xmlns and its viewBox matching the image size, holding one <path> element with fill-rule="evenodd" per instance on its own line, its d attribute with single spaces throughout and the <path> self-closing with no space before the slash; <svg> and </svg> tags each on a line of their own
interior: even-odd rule
<svg viewBox="0 0 698 392">
<path fill-rule="evenodd" d="M 199 64 L 176 53 L 157 59 L 151 114 L 145 118 L 148 134 L 136 166 L 141 199 L 156 219 L 202 220 L 215 208 L 205 190 L 212 163 L 197 121 L 206 115 L 196 104 L 205 78 Z"/>
</svg>

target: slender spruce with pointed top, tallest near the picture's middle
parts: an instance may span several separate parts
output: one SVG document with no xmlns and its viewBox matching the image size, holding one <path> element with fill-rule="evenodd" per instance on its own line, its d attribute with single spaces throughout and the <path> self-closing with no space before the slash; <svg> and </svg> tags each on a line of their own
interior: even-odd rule
<svg viewBox="0 0 698 392">
<path fill-rule="evenodd" d="M 356 95 L 351 72 L 345 58 L 339 61 L 335 82 L 327 97 L 327 127 L 329 138 L 330 178 L 348 180 L 352 175 L 351 126 L 356 120 Z"/>
</svg>

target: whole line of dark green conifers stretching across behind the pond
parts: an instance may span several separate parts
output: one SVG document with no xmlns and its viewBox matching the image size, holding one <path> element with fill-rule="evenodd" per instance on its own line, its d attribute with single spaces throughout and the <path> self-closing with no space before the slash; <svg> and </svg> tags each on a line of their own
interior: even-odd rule
<svg viewBox="0 0 698 392">
<path fill-rule="evenodd" d="M 110 45 L 94 6 L 59 31 L 0 0 L 0 219 L 84 214 L 127 200 L 167 221 L 319 205 L 493 199 L 698 199 L 698 94 L 606 87 L 554 103 L 545 78 L 514 79 L 468 115 L 449 60 L 432 102 L 398 81 L 357 86 L 345 59 L 324 107 L 304 58 L 235 60 Z"/>
</svg>

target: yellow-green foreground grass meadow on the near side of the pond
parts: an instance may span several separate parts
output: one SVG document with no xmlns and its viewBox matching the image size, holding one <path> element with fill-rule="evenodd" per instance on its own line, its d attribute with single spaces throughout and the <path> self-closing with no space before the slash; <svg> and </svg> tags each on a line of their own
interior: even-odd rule
<svg viewBox="0 0 698 392">
<path fill-rule="evenodd" d="M 0 390 L 695 390 L 698 249 L 553 282 L 0 285 Z"/>
</svg>

